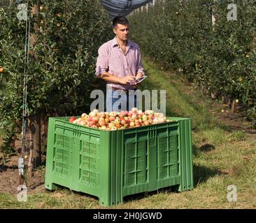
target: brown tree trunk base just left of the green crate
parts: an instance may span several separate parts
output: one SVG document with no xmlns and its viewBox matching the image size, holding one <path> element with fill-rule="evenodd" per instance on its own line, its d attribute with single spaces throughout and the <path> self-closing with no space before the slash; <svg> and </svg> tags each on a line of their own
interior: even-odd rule
<svg viewBox="0 0 256 223">
<path fill-rule="evenodd" d="M 33 166 L 41 166 L 41 116 L 29 116 L 29 132 L 33 139 Z"/>
</svg>

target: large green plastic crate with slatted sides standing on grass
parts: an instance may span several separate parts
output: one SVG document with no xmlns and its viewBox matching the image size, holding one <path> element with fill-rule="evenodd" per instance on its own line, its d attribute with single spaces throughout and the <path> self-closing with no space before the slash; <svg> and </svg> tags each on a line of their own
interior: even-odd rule
<svg viewBox="0 0 256 223">
<path fill-rule="evenodd" d="M 193 188 L 189 118 L 106 131 L 49 118 L 45 188 L 57 185 L 99 197 L 112 206 L 123 197 L 176 185 Z"/>
</svg>

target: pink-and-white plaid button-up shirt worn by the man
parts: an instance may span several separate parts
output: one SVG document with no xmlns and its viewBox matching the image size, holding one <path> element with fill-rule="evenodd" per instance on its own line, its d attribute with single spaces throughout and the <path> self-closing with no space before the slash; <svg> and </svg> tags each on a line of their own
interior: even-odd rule
<svg viewBox="0 0 256 223">
<path fill-rule="evenodd" d="M 138 72 L 144 75 L 141 63 L 141 50 L 131 40 L 127 42 L 127 52 L 125 54 L 118 45 L 116 37 L 101 45 L 98 52 L 96 77 L 100 77 L 104 72 L 109 72 L 116 77 L 125 77 L 127 75 L 135 77 Z M 114 84 L 110 82 L 107 84 L 118 89 L 134 88 L 130 84 Z"/>
</svg>

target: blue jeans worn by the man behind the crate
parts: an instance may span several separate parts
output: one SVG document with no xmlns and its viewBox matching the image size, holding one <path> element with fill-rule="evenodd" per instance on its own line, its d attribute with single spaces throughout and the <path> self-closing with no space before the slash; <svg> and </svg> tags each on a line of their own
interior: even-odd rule
<svg viewBox="0 0 256 223">
<path fill-rule="evenodd" d="M 135 91 L 134 91 L 135 92 Z M 106 89 L 106 112 L 129 111 L 138 104 L 134 92 Z"/>
</svg>

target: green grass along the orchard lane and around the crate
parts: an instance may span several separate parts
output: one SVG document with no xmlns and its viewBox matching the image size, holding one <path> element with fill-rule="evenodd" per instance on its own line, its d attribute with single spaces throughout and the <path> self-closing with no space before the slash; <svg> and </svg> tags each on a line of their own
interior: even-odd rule
<svg viewBox="0 0 256 223">
<path fill-rule="evenodd" d="M 192 121 L 194 190 L 172 192 L 169 187 L 125 197 L 118 206 L 102 207 L 88 194 L 59 188 L 55 192 L 28 191 L 28 201 L 0 193 L 0 208 L 256 208 L 256 140 L 246 132 L 229 130 L 208 111 L 211 100 L 188 95 L 178 77 L 144 59 L 148 78 L 141 89 L 166 90 L 166 115 Z M 237 201 L 227 201 L 227 187 L 235 185 Z"/>
</svg>

